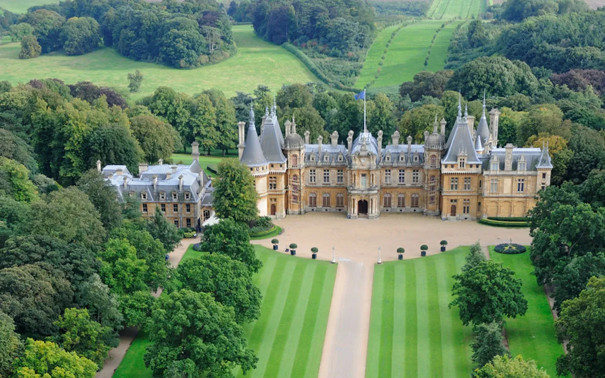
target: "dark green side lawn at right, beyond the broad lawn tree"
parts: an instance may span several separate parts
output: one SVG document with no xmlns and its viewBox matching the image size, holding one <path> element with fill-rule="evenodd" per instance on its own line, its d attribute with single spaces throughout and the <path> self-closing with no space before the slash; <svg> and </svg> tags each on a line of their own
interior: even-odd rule
<svg viewBox="0 0 605 378">
<path fill-rule="evenodd" d="M 506 321 L 506 336 L 511 354 L 521 354 L 525 359 L 536 360 L 538 367 L 545 368 L 551 377 L 557 376 L 557 357 L 563 354 L 563 347 L 557 342 L 551 307 L 544 287 L 538 285 L 529 259 L 529 251 L 520 255 L 503 255 L 489 247 L 492 260 L 500 261 L 515 271 L 515 276 L 523 281 L 522 291 L 528 301 L 525 316 Z"/>
</svg>

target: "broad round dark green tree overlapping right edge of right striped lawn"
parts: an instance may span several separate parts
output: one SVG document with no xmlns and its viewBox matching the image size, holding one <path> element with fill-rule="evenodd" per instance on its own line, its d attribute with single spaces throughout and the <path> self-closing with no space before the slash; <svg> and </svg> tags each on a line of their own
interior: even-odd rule
<svg viewBox="0 0 605 378">
<path fill-rule="evenodd" d="M 504 316 L 516 318 L 527 311 L 521 280 L 502 263 L 482 261 L 454 279 L 452 294 L 456 298 L 450 307 L 459 307 L 464 325 L 502 321 Z"/>
</svg>

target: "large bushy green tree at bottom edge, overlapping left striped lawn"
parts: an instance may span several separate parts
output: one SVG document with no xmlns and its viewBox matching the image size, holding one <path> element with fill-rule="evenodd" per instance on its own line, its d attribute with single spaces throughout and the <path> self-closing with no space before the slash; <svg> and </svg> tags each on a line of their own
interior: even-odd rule
<svg viewBox="0 0 605 378">
<path fill-rule="evenodd" d="M 161 296 L 147 329 L 152 344 L 145 353 L 145 366 L 154 377 L 232 377 L 235 367 L 246 374 L 258 361 L 247 348 L 232 308 L 215 302 L 208 293 L 179 290 Z"/>
</svg>

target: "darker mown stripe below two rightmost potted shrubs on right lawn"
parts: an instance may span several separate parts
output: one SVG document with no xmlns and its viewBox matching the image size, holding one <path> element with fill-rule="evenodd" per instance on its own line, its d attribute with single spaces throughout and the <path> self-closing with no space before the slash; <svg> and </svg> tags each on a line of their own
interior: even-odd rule
<svg viewBox="0 0 605 378">
<path fill-rule="evenodd" d="M 427 264 L 427 288 L 428 288 L 428 330 L 429 330 L 429 346 L 430 346 L 430 373 L 431 377 L 441 377 L 443 374 L 443 344 L 441 339 L 441 313 L 439 308 L 439 285 L 437 285 L 437 270 L 435 260 L 443 261 L 443 256 L 440 259 L 426 259 Z M 440 275 L 443 272 L 439 272 Z"/>
</svg>

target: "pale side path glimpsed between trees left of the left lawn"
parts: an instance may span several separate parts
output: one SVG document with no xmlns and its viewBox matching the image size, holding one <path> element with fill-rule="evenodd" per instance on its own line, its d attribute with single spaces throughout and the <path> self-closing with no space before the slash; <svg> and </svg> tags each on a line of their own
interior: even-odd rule
<svg viewBox="0 0 605 378">
<path fill-rule="evenodd" d="M 171 253 L 168 253 L 170 264 L 173 267 L 176 267 L 178 263 L 187 252 L 189 248 L 189 244 L 199 243 L 200 237 L 198 236 L 195 239 L 183 239 L 181 244 L 178 245 Z M 160 296 L 162 294 L 162 289 L 158 290 L 156 293 L 153 293 L 155 297 Z M 113 348 L 110 350 L 109 356 L 105 360 L 105 365 L 100 371 L 97 371 L 97 375 L 95 378 L 111 378 L 113 376 L 114 371 L 116 371 L 117 367 L 120 366 L 120 362 L 124 358 L 124 355 L 128 351 L 130 344 L 134 341 L 134 338 L 137 337 L 137 328 L 129 327 L 120 331 L 120 344 L 117 348 Z"/>
</svg>

